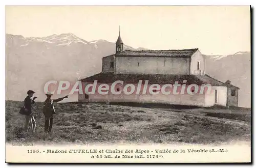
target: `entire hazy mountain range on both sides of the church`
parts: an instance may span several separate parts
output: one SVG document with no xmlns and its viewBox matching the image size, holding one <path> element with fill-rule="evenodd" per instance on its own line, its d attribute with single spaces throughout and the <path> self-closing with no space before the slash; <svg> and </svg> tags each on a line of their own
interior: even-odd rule
<svg viewBox="0 0 256 168">
<path fill-rule="evenodd" d="M 147 50 L 127 45 L 123 49 Z M 48 80 L 76 81 L 99 73 L 102 57 L 114 53 L 113 42 L 86 41 L 72 33 L 28 38 L 6 34 L 6 99 L 24 100 L 31 89 L 38 101 L 44 101 Z M 239 106 L 250 107 L 250 52 L 205 57 L 206 73 L 220 81 L 231 80 L 240 88 Z M 77 101 L 77 95 L 66 101 Z"/>
</svg>

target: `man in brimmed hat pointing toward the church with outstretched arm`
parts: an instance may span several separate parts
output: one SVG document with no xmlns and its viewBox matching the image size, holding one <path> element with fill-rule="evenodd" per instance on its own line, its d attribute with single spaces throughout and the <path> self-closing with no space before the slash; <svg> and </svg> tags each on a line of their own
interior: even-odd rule
<svg viewBox="0 0 256 168">
<path fill-rule="evenodd" d="M 53 115 L 55 114 L 55 109 L 53 103 L 59 102 L 65 98 L 68 98 L 68 96 L 58 98 L 55 100 L 52 100 L 52 94 L 47 93 L 46 94 L 47 99 L 45 100 L 44 107 L 42 108 L 42 113 L 45 115 L 45 132 L 51 133 L 52 125 L 53 125 Z"/>
</svg>

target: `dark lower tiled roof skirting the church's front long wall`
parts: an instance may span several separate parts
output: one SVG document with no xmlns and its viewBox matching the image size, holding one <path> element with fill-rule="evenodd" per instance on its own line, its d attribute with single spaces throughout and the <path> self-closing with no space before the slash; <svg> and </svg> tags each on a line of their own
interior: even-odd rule
<svg viewBox="0 0 256 168">
<path fill-rule="evenodd" d="M 98 73 L 96 75 L 81 79 L 82 81 L 111 83 L 117 80 L 122 80 L 127 83 L 138 83 L 139 80 L 148 80 L 151 84 L 174 84 L 175 81 L 183 83 L 187 80 L 187 84 L 202 85 L 202 81 L 195 75 L 163 75 L 163 74 L 114 74 L 114 73 Z"/>
</svg>

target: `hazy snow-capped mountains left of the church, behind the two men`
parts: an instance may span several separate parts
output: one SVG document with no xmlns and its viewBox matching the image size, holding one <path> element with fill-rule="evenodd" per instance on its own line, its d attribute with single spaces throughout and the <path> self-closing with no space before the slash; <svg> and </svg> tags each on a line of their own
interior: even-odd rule
<svg viewBox="0 0 256 168">
<path fill-rule="evenodd" d="M 127 45 L 123 48 L 136 50 Z M 113 53 L 115 42 L 89 42 L 72 33 L 27 38 L 6 34 L 6 98 L 23 100 L 26 90 L 33 89 L 43 101 L 42 87 L 47 80 L 75 81 L 98 73 L 102 57 Z"/>
</svg>

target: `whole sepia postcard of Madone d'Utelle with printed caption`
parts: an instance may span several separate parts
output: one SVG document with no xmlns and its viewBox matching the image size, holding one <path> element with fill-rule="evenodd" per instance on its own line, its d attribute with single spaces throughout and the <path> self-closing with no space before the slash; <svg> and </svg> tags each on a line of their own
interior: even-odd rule
<svg viewBox="0 0 256 168">
<path fill-rule="evenodd" d="M 251 162 L 250 6 L 6 6 L 6 162 Z"/>
</svg>

